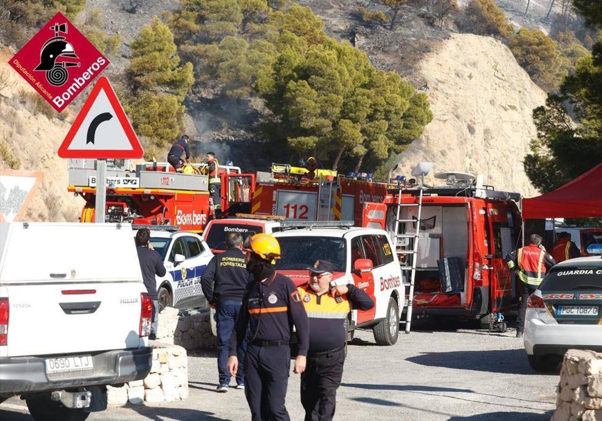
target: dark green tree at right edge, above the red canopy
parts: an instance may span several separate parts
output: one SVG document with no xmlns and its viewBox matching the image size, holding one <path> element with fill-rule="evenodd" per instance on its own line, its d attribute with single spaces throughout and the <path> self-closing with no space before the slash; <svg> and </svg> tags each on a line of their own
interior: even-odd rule
<svg viewBox="0 0 602 421">
<path fill-rule="evenodd" d="M 597 2 L 596 2 L 597 3 Z M 597 3 L 599 5 L 599 3 Z M 593 28 L 602 28 L 595 4 L 575 1 Z M 568 117 L 565 104 L 577 124 Z M 533 185 L 551 191 L 602 162 L 602 38 L 591 55 L 580 58 L 574 75 L 562 82 L 560 94 L 533 110 L 538 137 L 531 143 L 524 168 Z"/>
</svg>

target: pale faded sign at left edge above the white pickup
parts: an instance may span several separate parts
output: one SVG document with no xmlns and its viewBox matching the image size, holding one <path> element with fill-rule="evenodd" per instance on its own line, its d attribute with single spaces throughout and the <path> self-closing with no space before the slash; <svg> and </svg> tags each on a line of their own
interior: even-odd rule
<svg viewBox="0 0 602 421">
<path fill-rule="evenodd" d="M 43 177 L 36 171 L 0 170 L 0 222 L 23 217 Z"/>
</svg>

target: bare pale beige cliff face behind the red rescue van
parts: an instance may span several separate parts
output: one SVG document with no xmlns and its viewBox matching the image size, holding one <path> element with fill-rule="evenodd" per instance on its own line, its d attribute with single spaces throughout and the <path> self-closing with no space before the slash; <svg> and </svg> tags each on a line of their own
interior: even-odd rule
<svg viewBox="0 0 602 421">
<path fill-rule="evenodd" d="M 535 195 L 522 161 L 536 136 L 532 110 L 546 95 L 510 50 L 493 38 L 454 34 L 417 72 L 429 87 L 434 118 L 399 156 L 398 173 L 429 161 L 435 162 L 432 173 L 484 174 L 497 189 Z"/>
</svg>

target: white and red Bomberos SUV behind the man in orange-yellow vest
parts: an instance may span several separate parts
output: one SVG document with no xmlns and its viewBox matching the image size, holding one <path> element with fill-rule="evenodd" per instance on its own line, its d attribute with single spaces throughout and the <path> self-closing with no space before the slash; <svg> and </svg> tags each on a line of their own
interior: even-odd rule
<svg viewBox="0 0 602 421">
<path fill-rule="evenodd" d="M 378 345 L 393 345 L 399 336 L 399 316 L 405 303 L 405 286 L 393 245 L 384 230 L 349 227 L 344 222 L 284 222 L 273 234 L 281 248 L 276 270 L 297 286 L 309 281 L 307 268 L 318 259 L 334 265 L 332 283 L 354 284 L 374 300 L 367 311 L 352 310 L 349 330 L 372 328 Z M 328 227 L 330 225 L 330 227 Z"/>
</svg>

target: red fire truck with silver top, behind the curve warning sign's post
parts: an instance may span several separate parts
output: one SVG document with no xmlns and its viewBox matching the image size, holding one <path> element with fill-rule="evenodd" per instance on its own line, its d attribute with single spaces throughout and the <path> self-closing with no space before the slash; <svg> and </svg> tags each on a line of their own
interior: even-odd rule
<svg viewBox="0 0 602 421">
<path fill-rule="evenodd" d="M 95 220 L 96 170 L 93 159 L 71 159 L 68 190 L 85 200 L 82 222 Z M 174 225 L 202 232 L 213 218 L 208 177 L 176 173 L 167 162 L 144 162 L 130 170 L 128 160 L 107 163 L 107 222 Z M 203 167 L 204 164 L 193 164 Z M 220 165 L 222 211 L 228 215 L 250 211 L 255 174 Z"/>
</svg>

